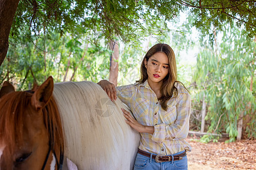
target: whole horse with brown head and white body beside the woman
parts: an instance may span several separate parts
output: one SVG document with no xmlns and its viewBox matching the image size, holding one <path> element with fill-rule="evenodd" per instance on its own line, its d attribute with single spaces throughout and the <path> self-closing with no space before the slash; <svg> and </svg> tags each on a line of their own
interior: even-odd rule
<svg viewBox="0 0 256 170">
<path fill-rule="evenodd" d="M 54 86 L 54 91 L 53 91 Z M 53 85 L 49 77 L 32 91 L 0 91 L 0 169 L 132 169 L 140 136 L 96 83 Z M 63 164 L 64 162 L 64 164 Z"/>
</svg>

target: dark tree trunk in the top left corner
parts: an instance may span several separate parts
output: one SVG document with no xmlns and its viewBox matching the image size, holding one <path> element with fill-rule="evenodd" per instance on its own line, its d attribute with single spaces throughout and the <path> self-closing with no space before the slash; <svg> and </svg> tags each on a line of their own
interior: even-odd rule
<svg viewBox="0 0 256 170">
<path fill-rule="evenodd" d="M 9 34 L 19 0 L 0 1 L 0 66 L 9 47 Z"/>
</svg>

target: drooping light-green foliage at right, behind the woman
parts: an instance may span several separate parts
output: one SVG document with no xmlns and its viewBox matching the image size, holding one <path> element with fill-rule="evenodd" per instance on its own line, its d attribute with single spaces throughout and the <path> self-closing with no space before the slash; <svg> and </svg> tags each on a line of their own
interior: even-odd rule
<svg viewBox="0 0 256 170">
<path fill-rule="evenodd" d="M 202 99 L 203 94 L 206 96 L 208 114 L 205 119 L 210 121 L 210 133 L 226 131 L 229 142 L 235 141 L 242 113 L 243 117 L 251 117 L 247 135 L 255 138 L 255 89 L 250 91 L 250 78 L 255 70 L 255 42 L 247 41 L 246 35 L 235 26 L 225 25 L 223 30 L 218 46 L 220 54 L 207 48 L 208 44 L 197 58 L 196 99 Z"/>
</svg>

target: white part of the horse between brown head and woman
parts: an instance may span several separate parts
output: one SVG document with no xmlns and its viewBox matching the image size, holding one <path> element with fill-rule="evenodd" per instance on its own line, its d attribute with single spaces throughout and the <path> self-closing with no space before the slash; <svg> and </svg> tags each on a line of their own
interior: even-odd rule
<svg viewBox="0 0 256 170">
<path fill-rule="evenodd" d="M 64 129 L 65 156 L 79 169 L 132 169 L 141 136 L 126 124 L 117 99 L 93 82 L 54 86 Z"/>
</svg>

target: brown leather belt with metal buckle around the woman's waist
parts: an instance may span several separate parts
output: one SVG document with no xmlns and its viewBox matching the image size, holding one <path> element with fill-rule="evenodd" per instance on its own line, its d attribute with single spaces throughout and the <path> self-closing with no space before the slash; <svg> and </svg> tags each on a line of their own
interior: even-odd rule
<svg viewBox="0 0 256 170">
<path fill-rule="evenodd" d="M 147 156 L 148 158 L 150 158 L 150 153 L 148 152 L 144 152 L 142 150 L 138 150 L 138 153 L 144 156 Z M 187 153 L 186 151 L 184 151 L 183 153 L 179 154 L 179 155 L 175 155 L 174 156 L 174 161 L 176 160 L 181 160 L 183 159 L 184 156 L 186 156 Z M 152 155 L 152 158 L 155 159 L 155 162 L 160 163 L 160 162 L 170 162 L 172 161 L 172 156 L 164 156 L 164 155 Z"/>
</svg>

